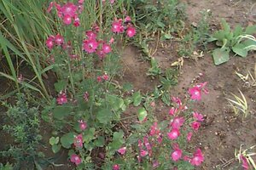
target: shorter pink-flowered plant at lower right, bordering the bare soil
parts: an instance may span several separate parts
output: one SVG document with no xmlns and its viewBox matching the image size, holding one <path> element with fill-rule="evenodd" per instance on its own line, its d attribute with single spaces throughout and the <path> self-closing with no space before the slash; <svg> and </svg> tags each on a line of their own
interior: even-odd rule
<svg viewBox="0 0 256 170">
<path fill-rule="evenodd" d="M 133 131 L 125 146 L 119 148 L 115 159 L 103 168 L 194 169 L 201 166 L 205 156 L 190 140 L 198 133 L 204 116 L 195 111 L 192 104 L 201 100 L 203 92 L 208 94 L 206 85 L 207 82 L 203 82 L 189 88 L 190 98 L 184 103 L 179 97 L 172 97 L 173 107 L 166 113 L 165 120 L 158 122 L 148 112 L 143 122 L 131 125 Z"/>
</svg>

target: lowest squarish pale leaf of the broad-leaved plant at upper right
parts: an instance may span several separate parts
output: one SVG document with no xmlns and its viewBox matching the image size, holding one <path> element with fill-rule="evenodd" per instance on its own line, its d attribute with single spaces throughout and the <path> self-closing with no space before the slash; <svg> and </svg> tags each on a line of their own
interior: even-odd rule
<svg viewBox="0 0 256 170">
<path fill-rule="evenodd" d="M 215 65 L 223 64 L 230 60 L 230 48 L 216 48 L 212 52 Z"/>
</svg>

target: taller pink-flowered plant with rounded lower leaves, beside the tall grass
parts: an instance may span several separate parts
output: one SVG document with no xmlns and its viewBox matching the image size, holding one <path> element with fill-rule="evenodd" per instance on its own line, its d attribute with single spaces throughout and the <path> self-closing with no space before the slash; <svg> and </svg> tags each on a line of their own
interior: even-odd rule
<svg viewBox="0 0 256 170">
<path fill-rule="evenodd" d="M 118 13 L 123 6 L 114 1 L 55 1 L 47 10 L 60 25 L 45 41 L 46 60 L 58 79 L 55 99 L 42 117 L 55 127 L 49 139 L 53 152 L 69 150 L 77 169 L 96 168 L 91 157 L 96 148 L 104 147 L 108 158 L 125 143 L 124 132 L 112 130 L 129 105 L 113 82 L 119 65 L 115 46 L 120 37 L 137 32 L 131 17 Z"/>
</svg>

